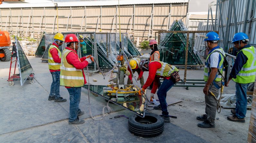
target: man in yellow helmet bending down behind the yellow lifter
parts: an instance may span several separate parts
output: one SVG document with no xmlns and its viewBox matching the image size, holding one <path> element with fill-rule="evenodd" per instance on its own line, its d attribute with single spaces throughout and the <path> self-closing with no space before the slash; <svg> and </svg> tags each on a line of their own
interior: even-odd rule
<svg viewBox="0 0 256 143">
<path fill-rule="evenodd" d="M 138 73 L 138 78 L 137 80 L 140 81 L 140 85 L 141 87 L 144 85 L 144 77 L 143 77 L 143 71 L 140 70 L 140 68 L 138 67 L 139 65 L 139 62 L 140 62 L 140 59 L 139 58 L 132 58 L 129 62 L 130 66 L 131 66 L 131 69 L 132 69 L 132 73 L 134 74 L 135 71 Z M 131 69 L 129 68 L 128 66 L 128 71 L 131 73 Z M 131 84 L 133 83 L 132 81 L 132 74 L 130 74 L 128 76 L 128 80 L 127 80 L 127 84 Z"/>
</svg>

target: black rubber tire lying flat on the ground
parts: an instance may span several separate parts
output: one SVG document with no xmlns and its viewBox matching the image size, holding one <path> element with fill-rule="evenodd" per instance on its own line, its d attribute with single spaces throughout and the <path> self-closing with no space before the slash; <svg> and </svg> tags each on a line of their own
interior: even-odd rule
<svg viewBox="0 0 256 143">
<path fill-rule="evenodd" d="M 132 115 L 128 120 L 129 131 L 140 137 L 155 137 L 164 131 L 164 119 L 153 113 L 145 113 L 145 117 Z"/>
</svg>

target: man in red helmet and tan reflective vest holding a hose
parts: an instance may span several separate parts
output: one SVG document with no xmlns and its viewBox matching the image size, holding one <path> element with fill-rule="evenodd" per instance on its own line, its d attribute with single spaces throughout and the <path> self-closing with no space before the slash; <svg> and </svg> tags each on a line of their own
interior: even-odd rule
<svg viewBox="0 0 256 143">
<path fill-rule="evenodd" d="M 91 59 L 77 55 L 79 40 L 75 34 L 68 34 L 65 37 L 67 47 L 62 52 L 60 84 L 65 86 L 69 92 L 69 124 L 82 124 L 84 120 L 79 120 L 78 116 L 84 111 L 79 108 L 81 99 L 81 87 L 86 84 L 83 68 L 91 63 Z M 92 58 L 92 57 L 91 57 Z"/>
</svg>

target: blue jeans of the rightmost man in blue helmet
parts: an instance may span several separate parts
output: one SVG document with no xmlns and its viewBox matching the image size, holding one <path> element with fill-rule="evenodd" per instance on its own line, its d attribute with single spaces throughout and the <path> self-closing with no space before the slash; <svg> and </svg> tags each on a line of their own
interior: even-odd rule
<svg viewBox="0 0 256 143">
<path fill-rule="evenodd" d="M 245 117 L 247 110 L 247 94 L 246 89 L 249 83 L 236 83 L 236 116 L 241 119 Z"/>
</svg>

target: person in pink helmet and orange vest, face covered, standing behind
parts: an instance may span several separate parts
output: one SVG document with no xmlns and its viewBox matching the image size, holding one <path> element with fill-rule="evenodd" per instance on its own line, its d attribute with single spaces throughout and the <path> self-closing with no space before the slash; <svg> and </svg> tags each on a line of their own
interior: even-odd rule
<svg viewBox="0 0 256 143">
<path fill-rule="evenodd" d="M 157 42 L 156 40 L 150 40 L 149 41 L 149 47 L 152 50 L 150 53 L 149 61 L 157 60 L 160 61 L 160 53 L 157 48 Z M 158 81 L 158 88 L 161 86 L 160 80 Z M 147 88 L 151 90 L 153 88 L 153 82 L 150 84 L 150 86 Z"/>
</svg>

